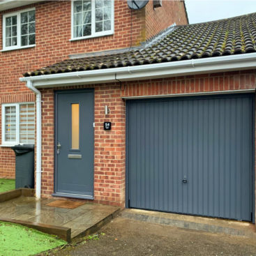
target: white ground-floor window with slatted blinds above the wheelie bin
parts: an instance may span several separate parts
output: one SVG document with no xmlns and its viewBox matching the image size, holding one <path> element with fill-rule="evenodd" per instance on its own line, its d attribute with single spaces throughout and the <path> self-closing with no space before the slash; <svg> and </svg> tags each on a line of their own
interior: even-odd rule
<svg viewBox="0 0 256 256">
<path fill-rule="evenodd" d="M 35 107 L 33 103 L 2 105 L 2 144 L 35 142 Z"/>
</svg>

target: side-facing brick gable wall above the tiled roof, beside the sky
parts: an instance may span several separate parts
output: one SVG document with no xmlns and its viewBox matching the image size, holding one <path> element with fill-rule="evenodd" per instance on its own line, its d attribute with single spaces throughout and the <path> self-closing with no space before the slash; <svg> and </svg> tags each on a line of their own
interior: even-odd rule
<svg viewBox="0 0 256 256">
<path fill-rule="evenodd" d="M 153 8 L 153 0 L 146 5 L 146 39 L 176 23 L 188 24 L 183 1 L 163 0 L 162 7 Z"/>
</svg>

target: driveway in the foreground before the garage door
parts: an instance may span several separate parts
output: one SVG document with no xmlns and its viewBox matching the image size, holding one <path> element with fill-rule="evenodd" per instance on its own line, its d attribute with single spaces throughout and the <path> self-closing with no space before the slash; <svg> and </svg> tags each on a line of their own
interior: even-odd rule
<svg viewBox="0 0 256 256">
<path fill-rule="evenodd" d="M 50 255 L 256 255 L 255 239 L 116 218 L 89 240 Z M 49 254 L 47 254 L 49 255 Z"/>
</svg>

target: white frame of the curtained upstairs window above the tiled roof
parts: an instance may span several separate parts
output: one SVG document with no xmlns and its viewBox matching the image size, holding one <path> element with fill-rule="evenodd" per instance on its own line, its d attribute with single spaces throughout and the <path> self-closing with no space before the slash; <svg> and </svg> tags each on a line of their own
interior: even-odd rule
<svg viewBox="0 0 256 256">
<path fill-rule="evenodd" d="M 109 36 L 114 34 L 114 0 L 111 0 L 111 30 L 108 31 L 100 31 L 95 32 L 96 22 L 95 22 L 95 1 L 91 0 L 91 35 L 90 36 L 80 36 L 79 38 L 74 37 L 74 1 L 71 0 L 71 39 L 73 40 L 81 40 L 86 38 L 96 38 L 99 36 Z"/>
</svg>

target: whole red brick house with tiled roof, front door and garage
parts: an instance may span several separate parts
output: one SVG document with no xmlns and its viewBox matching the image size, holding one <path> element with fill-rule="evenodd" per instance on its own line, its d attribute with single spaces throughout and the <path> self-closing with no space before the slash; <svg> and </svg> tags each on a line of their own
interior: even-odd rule
<svg viewBox="0 0 256 256">
<path fill-rule="evenodd" d="M 2 11 L 0 176 L 36 95 L 37 197 L 254 222 L 256 14 L 188 25 L 162 3 Z"/>
</svg>

